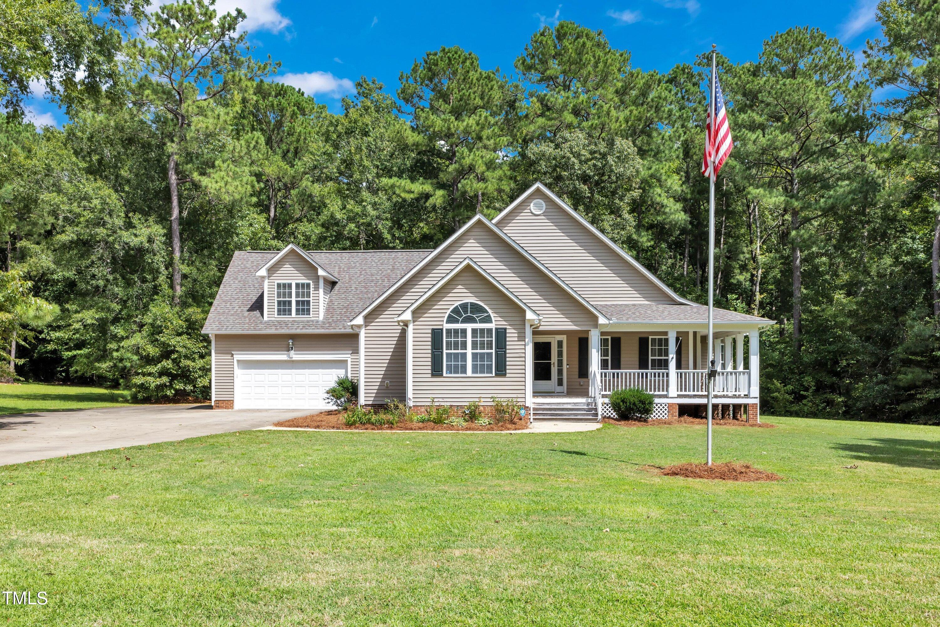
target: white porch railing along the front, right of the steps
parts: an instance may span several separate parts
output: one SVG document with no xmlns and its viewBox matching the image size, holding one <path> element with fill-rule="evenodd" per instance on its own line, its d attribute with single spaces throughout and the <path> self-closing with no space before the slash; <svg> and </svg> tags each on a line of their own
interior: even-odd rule
<svg viewBox="0 0 940 627">
<path fill-rule="evenodd" d="M 707 370 L 676 370 L 676 390 L 681 395 L 704 396 L 708 389 Z M 746 397 L 750 390 L 751 373 L 748 370 L 718 370 L 714 380 L 716 396 Z M 669 390 L 668 370 L 602 370 L 601 393 L 639 387 L 651 394 L 666 395 Z"/>
</svg>

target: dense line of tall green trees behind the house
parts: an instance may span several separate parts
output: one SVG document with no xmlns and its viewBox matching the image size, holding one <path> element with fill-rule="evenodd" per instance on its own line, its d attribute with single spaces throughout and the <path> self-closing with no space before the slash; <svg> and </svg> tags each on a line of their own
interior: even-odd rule
<svg viewBox="0 0 940 627">
<path fill-rule="evenodd" d="M 683 296 L 707 290 L 709 59 L 635 68 L 602 31 L 509 71 L 442 47 L 339 114 L 184 0 L 0 1 L 2 375 L 205 398 L 236 250 L 433 247 L 540 180 Z M 716 303 L 762 334 L 765 412 L 940 422 L 940 4 L 883 0 L 863 55 L 793 27 L 718 56 L 735 147 Z M 41 86 L 62 129 L 24 121 Z"/>
</svg>

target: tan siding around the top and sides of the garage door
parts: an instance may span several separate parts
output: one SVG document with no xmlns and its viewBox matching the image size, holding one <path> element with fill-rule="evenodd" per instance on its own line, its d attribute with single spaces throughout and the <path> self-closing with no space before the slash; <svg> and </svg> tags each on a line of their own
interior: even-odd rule
<svg viewBox="0 0 940 627">
<path fill-rule="evenodd" d="M 355 333 L 337 334 L 279 334 L 258 333 L 215 336 L 215 400 L 235 400 L 235 375 L 232 353 L 284 353 L 287 358 L 288 340 L 294 340 L 295 353 L 349 352 L 350 376 L 359 376 L 359 336 Z"/>
</svg>

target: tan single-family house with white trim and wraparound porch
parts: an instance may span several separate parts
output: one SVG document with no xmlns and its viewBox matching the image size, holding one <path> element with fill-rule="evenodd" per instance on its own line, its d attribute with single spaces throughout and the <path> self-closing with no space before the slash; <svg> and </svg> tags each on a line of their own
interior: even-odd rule
<svg viewBox="0 0 940 627">
<path fill-rule="evenodd" d="M 623 387 L 655 395 L 654 415 L 702 405 L 706 322 L 707 307 L 536 183 L 433 250 L 237 252 L 203 333 L 215 408 L 324 408 L 348 375 L 362 405 L 497 397 L 534 419 L 599 419 Z M 715 310 L 726 413 L 757 412 L 767 324 Z"/>
</svg>

